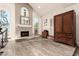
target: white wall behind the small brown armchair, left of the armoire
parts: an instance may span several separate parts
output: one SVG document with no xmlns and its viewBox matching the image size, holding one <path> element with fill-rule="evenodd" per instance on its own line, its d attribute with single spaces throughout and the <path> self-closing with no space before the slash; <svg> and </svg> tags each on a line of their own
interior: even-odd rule
<svg viewBox="0 0 79 59">
<path fill-rule="evenodd" d="M 47 19 L 47 26 L 44 25 L 45 19 Z M 52 19 L 52 26 L 50 26 L 51 19 Z M 53 20 L 53 16 L 52 15 L 43 16 L 41 21 L 42 21 L 42 31 L 43 30 L 48 30 L 49 34 L 54 36 L 54 20 Z"/>
</svg>

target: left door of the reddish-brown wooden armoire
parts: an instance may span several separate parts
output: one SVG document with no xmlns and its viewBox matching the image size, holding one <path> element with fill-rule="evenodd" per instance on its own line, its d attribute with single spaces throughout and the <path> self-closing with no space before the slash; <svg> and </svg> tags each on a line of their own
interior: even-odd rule
<svg viewBox="0 0 79 59">
<path fill-rule="evenodd" d="M 57 15 L 54 17 L 54 29 L 55 33 L 61 33 L 62 32 L 62 15 Z"/>
</svg>

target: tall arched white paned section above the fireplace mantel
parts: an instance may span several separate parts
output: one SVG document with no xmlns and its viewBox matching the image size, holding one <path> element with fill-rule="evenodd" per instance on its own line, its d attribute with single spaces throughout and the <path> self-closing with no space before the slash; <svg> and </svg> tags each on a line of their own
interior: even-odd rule
<svg viewBox="0 0 79 59">
<path fill-rule="evenodd" d="M 21 24 L 28 25 L 29 24 L 29 9 L 22 7 L 21 8 Z"/>
</svg>

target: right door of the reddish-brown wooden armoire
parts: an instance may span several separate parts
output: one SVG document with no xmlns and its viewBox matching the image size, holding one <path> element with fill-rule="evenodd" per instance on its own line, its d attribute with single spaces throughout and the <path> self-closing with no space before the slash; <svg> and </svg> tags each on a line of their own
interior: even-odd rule
<svg viewBox="0 0 79 59">
<path fill-rule="evenodd" d="M 63 15 L 63 32 L 72 33 L 73 13 L 67 12 Z"/>
</svg>

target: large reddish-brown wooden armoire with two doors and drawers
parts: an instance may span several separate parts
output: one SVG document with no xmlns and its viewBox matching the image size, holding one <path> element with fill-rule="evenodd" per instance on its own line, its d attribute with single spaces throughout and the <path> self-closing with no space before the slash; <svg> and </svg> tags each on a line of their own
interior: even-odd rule
<svg viewBox="0 0 79 59">
<path fill-rule="evenodd" d="M 74 10 L 54 16 L 54 41 L 76 45 L 76 14 Z"/>
</svg>

